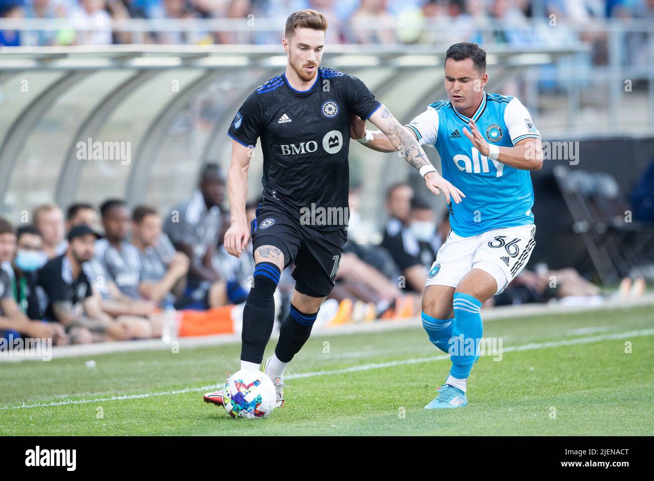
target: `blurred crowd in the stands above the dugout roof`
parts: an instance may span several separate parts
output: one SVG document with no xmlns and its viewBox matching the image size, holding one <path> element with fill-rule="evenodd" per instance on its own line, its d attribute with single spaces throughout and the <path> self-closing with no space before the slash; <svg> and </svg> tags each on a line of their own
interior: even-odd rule
<svg viewBox="0 0 654 481">
<path fill-rule="evenodd" d="M 0 0 L 0 16 L 27 19 L 67 19 L 68 28 L 27 32 L 0 31 L 0 46 L 156 44 L 267 44 L 279 43 L 286 16 L 312 8 L 328 16 L 328 43 L 383 44 L 452 43 L 454 41 L 521 45 L 559 45 L 570 41 L 565 28 L 549 33 L 528 26 L 528 20 L 587 27 L 592 22 L 618 18 L 654 20 L 654 0 Z M 247 20 L 252 31 L 151 31 L 137 35 L 112 31 L 109 20 L 182 20 L 217 18 Z M 258 19 L 270 19 L 277 30 L 258 29 Z M 495 22 L 495 23 L 493 23 Z M 93 24 L 94 29 L 84 31 Z M 426 24 L 436 27 L 422 30 Z M 497 27 L 494 25 L 498 25 Z M 481 33 L 484 31 L 485 33 Z M 487 35 L 489 34 L 490 37 Z M 21 38 L 24 35 L 26 38 Z M 29 38 L 28 38 L 29 37 Z M 593 33 L 581 40 L 593 43 Z M 638 40 L 638 39 L 636 39 Z M 642 41 L 642 39 L 640 39 Z"/>
</svg>

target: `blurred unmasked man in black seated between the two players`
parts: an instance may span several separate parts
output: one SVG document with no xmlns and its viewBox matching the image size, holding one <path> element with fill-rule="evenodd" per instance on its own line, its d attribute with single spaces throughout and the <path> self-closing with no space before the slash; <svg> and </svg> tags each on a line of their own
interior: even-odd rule
<svg viewBox="0 0 654 481">
<path fill-rule="evenodd" d="M 407 183 L 388 188 L 386 208 L 389 219 L 381 246 L 387 249 L 404 276 L 405 282 L 400 287 L 422 293 L 427 269 L 421 262 L 421 246 L 409 226 L 412 198 L 413 189 Z"/>
</svg>

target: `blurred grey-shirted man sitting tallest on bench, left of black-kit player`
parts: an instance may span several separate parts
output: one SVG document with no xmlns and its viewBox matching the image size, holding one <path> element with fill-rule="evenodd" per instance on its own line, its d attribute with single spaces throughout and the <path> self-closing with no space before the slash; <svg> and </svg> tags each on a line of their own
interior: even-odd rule
<svg viewBox="0 0 654 481">
<path fill-rule="evenodd" d="M 175 249 L 190 259 L 186 291 L 178 303 L 183 308 L 207 309 L 227 302 L 226 282 L 213 267 L 221 226 L 219 205 L 225 194 L 225 179 L 216 164 L 207 164 L 192 198 L 172 207 L 164 232 Z"/>
</svg>

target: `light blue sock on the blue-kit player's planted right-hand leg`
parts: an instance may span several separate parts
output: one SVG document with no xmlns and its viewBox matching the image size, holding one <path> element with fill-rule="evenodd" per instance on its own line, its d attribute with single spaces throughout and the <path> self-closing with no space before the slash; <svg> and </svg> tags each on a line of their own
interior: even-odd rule
<svg viewBox="0 0 654 481">
<path fill-rule="evenodd" d="M 479 342 L 483 334 L 481 323 L 481 302 L 470 294 L 454 294 L 454 323 L 452 337 L 460 338 L 463 342 L 451 345 L 453 351 L 450 353 L 452 369 L 450 374 L 453 378 L 466 379 L 470 376 L 472 365 L 479 357 Z M 473 344 L 470 344 L 472 342 Z"/>
</svg>

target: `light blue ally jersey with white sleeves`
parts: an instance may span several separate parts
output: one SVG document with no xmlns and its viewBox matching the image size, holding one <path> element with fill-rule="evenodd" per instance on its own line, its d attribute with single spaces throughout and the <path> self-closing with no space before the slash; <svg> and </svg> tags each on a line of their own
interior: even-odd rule
<svg viewBox="0 0 654 481">
<path fill-rule="evenodd" d="M 460 204 L 451 204 L 452 230 L 458 236 L 470 237 L 534 223 L 529 171 L 479 154 L 463 134 L 470 120 L 451 102 L 438 101 L 407 124 L 421 144 L 436 147 L 443 177 L 466 194 Z M 472 120 L 491 145 L 513 147 L 523 139 L 540 139 L 527 109 L 515 97 L 485 93 Z"/>
</svg>

